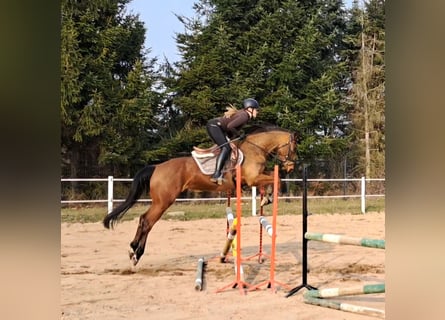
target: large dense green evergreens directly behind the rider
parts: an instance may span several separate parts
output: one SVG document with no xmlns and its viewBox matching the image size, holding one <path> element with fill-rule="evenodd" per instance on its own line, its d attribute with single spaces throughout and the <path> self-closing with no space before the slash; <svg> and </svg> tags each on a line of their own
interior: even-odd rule
<svg viewBox="0 0 445 320">
<path fill-rule="evenodd" d="M 167 90 L 183 128 L 203 127 L 246 97 L 258 119 L 300 133 L 299 154 L 335 158 L 348 146 L 345 13 L 339 0 L 201 0 L 178 34 L 183 60 Z M 172 71 L 174 70 L 174 71 Z M 201 141 L 206 133 L 202 132 Z"/>
</svg>

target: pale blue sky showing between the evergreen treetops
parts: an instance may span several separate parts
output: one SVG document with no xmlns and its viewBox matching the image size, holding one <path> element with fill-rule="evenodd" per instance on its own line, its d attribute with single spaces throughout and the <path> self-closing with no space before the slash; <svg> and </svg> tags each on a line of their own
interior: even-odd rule
<svg viewBox="0 0 445 320">
<path fill-rule="evenodd" d="M 184 26 L 175 14 L 193 17 L 193 4 L 197 0 L 132 0 L 128 12 L 139 14 L 145 23 L 145 48 L 151 49 L 150 58 L 157 57 L 160 62 L 164 55 L 170 62 L 180 59 L 176 48 L 175 33 L 184 33 Z M 346 0 L 350 4 L 352 0 Z"/>
</svg>

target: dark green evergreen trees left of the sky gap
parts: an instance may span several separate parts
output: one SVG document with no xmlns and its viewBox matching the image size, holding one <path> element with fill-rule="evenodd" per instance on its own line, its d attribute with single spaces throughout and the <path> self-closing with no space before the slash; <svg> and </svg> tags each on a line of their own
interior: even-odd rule
<svg viewBox="0 0 445 320">
<path fill-rule="evenodd" d="M 128 174 L 156 141 L 154 60 L 145 29 L 126 14 L 129 0 L 62 1 L 62 172 Z"/>
</svg>

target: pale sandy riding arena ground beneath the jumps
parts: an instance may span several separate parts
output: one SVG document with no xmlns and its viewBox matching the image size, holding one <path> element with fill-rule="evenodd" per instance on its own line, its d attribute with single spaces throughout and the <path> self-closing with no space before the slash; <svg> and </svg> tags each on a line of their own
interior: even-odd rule
<svg viewBox="0 0 445 320">
<path fill-rule="evenodd" d="M 145 255 L 133 267 L 128 249 L 136 227 L 137 220 L 122 222 L 114 230 L 101 223 L 62 224 L 61 319 L 378 319 L 307 304 L 305 288 L 285 297 L 302 284 L 301 215 L 277 217 L 275 290 L 267 286 L 271 238 L 263 232 L 266 255 L 260 264 L 258 217 L 242 218 L 245 282 L 263 283 L 246 294 L 231 287 L 236 281 L 233 258 L 229 255 L 224 264 L 218 259 L 226 242 L 225 219 L 159 221 Z M 314 214 L 308 217 L 308 231 L 384 239 L 385 214 Z M 200 257 L 207 262 L 201 291 L 195 290 Z M 385 279 L 385 250 L 310 241 L 308 265 L 307 283 L 318 289 L 374 284 Z M 384 293 L 335 300 L 385 308 Z"/>
</svg>

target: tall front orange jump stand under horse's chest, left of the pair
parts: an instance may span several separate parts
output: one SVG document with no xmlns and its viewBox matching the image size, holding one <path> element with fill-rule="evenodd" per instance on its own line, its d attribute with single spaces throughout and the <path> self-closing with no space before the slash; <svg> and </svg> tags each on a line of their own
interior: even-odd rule
<svg viewBox="0 0 445 320">
<path fill-rule="evenodd" d="M 236 166 L 236 279 L 228 285 L 216 290 L 216 293 L 222 292 L 228 288 L 238 287 L 241 294 L 246 294 L 245 289 L 252 287 L 241 278 L 241 166 Z"/>
</svg>

